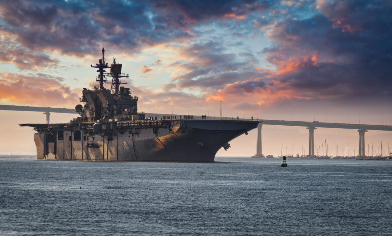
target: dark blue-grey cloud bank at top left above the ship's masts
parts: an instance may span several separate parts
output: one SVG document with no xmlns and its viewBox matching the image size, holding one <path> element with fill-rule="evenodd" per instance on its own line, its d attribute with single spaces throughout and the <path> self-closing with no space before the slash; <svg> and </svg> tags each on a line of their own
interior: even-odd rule
<svg viewBox="0 0 392 236">
<path fill-rule="evenodd" d="M 3 31 L 30 50 L 83 56 L 102 45 L 131 53 L 190 38 L 186 24 L 268 8 L 260 1 L 5 1 Z"/>
</svg>

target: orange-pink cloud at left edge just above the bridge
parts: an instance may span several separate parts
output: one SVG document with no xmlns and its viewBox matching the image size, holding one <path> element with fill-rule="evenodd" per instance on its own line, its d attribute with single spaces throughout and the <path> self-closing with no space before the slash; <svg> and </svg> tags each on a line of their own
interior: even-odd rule
<svg viewBox="0 0 392 236">
<path fill-rule="evenodd" d="M 77 104 L 78 92 L 62 84 L 62 81 L 62 77 L 43 73 L 0 73 L 0 100 L 40 106 Z"/>
</svg>

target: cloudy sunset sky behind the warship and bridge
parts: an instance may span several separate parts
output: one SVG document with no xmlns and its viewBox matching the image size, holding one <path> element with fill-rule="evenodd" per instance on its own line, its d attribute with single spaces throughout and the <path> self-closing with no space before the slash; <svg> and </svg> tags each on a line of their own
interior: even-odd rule
<svg viewBox="0 0 392 236">
<path fill-rule="evenodd" d="M 74 108 L 105 47 L 139 111 L 219 116 L 221 102 L 227 117 L 392 125 L 391 23 L 392 1 L 376 0 L 0 0 L 0 104 Z M 33 131 L 18 124 L 44 115 L 0 118 L 0 153 L 34 153 Z M 254 155 L 256 136 L 218 156 Z M 358 137 L 318 129 L 315 144 L 353 153 Z M 366 148 L 392 143 L 390 132 L 365 137 Z M 263 126 L 264 154 L 307 143 L 305 128 Z"/>
</svg>

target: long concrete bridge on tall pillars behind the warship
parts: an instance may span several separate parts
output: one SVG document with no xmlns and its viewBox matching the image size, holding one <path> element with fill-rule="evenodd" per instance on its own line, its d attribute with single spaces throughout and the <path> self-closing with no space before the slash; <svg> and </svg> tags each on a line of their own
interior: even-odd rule
<svg viewBox="0 0 392 236">
<path fill-rule="evenodd" d="M 0 105 L 0 110 L 13 110 L 13 111 L 36 111 L 36 112 L 44 112 L 46 115 L 46 122 L 49 123 L 50 113 L 67 113 L 67 114 L 76 114 L 75 109 L 67 109 L 67 108 L 52 108 L 52 107 L 37 107 L 37 106 L 15 106 L 15 105 Z M 178 114 L 155 114 L 155 113 L 146 113 L 146 117 L 152 117 L 160 119 L 161 117 L 172 117 L 176 118 L 182 117 Z M 201 116 L 193 116 L 193 119 L 201 119 Z M 235 118 L 230 117 L 212 117 L 207 116 L 206 119 L 209 120 L 232 120 Z M 251 119 L 241 119 L 240 120 L 251 120 Z M 392 131 L 392 126 L 384 126 L 384 125 L 371 125 L 371 124 L 353 124 L 353 123 L 331 123 L 331 122 L 306 122 L 306 121 L 285 121 L 285 120 L 267 120 L 267 119 L 256 119 L 260 123 L 257 127 L 257 153 L 256 157 L 264 157 L 262 154 L 262 143 L 261 143 L 261 128 L 262 125 L 277 125 L 277 126 L 302 126 L 306 127 L 309 130 L 309 152 L 308 156 L 314 156 L 314 130 L 317 127 L 321 128 L 339 128 L 339 129 L 355 129 L 359 132 L 359 157 L 365 156 L 365 132 L 368 130 L 380 130 L 380 131 Z"/>
</svg>

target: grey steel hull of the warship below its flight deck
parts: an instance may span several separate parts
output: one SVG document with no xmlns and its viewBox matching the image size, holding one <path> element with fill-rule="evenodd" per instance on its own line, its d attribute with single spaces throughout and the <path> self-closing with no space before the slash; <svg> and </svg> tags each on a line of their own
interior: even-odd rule
<svg viewBox="0 0 392 236">
<path fill-rule="evenodd" d="M 34 134 L 39 160 L 213 162 L 230 140 L 257 127 L 255 121 L 181 120 L 171 127 L 122 129 L 111 138 L 82 130 Z M 62 136 L 59 139 L 59 133 Z M 75 132 L 80 132 L 76 135 Z M 76 140 L 75 140 L 76 138 Z"/>
</svg>

